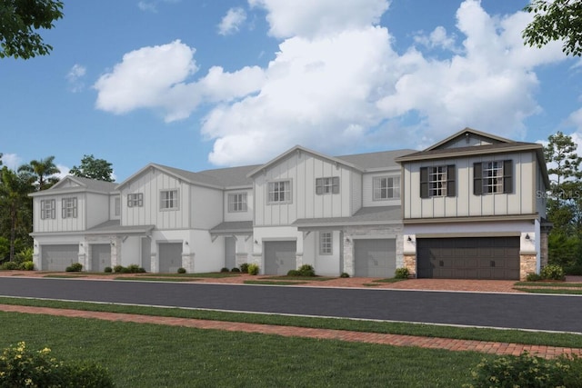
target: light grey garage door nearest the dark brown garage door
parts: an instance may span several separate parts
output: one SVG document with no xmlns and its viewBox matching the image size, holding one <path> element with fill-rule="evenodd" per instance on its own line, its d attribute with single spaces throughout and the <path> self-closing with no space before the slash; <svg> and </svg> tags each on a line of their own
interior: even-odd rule
<svg viewBox="0 0 582 388">
<path fill-rule="evenodd" d="M 354 262 L 356 276 L 394 277 L 396 240 L 354 240 Z"/>
</svg>

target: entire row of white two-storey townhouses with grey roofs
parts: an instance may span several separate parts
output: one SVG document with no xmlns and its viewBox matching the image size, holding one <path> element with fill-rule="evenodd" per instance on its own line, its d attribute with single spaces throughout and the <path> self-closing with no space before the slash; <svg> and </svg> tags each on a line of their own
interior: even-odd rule
<svg viewBox="0 0 582 388">
<path fill-rule="evenodd" d="M 35 265 L 148 272 L 259 264 L 286 274 L 525 278 L 547 261 L 540 144 L 469 128 L 424 151 L 329 156 L 297 145 L 262 165 L 148 164 L 121 184 L 67 176 L 34 198 Z"/>
</svg>

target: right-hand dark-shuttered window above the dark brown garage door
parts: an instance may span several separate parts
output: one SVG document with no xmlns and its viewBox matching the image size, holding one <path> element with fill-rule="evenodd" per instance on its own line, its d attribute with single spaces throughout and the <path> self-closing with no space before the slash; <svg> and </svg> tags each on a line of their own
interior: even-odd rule
<svg viewBox="0 0 582 388">
<path fill-rule="evenodd" d="M 492 161 L 473 164 L 473 193 L 513 193 L 513 161 Z"/>
</svg>

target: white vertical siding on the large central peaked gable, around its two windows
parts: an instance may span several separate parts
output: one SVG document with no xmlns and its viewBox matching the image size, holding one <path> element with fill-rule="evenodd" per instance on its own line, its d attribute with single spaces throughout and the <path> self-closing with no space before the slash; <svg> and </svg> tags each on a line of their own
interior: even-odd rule
<svg viewBox="0 0 582 388">
<path fill-rule="evenodd" d="M 288 155 L 278 164 L 257 174 L 255 189 L 256 225 L 288 225 L 299 218 L 342 217 L 351 215 L 350 169 L 307 152 Z M 338 194 L 316 194 L 316 178 L 339 177 Z M 291 201 L 269 204 L 268 183 L 289 180 Z"/>
</svg>

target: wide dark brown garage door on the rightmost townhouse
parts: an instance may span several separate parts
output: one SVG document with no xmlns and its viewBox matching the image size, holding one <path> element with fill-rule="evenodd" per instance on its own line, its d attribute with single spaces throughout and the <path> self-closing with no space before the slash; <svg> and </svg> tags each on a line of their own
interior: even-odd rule
<svg viewBox="0 0 582 388">
<path fill-rule="evenodd" d="M 417 275 L 440 279 L 519 279 L 519 237 L 419 238 Z"/>
</svg>

